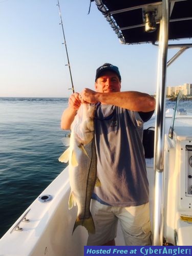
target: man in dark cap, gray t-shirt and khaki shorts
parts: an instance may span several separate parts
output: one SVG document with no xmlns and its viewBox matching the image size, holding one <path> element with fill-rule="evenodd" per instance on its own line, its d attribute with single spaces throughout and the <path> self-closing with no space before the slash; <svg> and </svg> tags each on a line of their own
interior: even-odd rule
<svg viewBox="0 0 192 256">
<path fill-rule="evenodd" d="M 97 176 L 92 196 L 96 233 L 88 245 L 115 245 L 120 221 L 126 245 L 151 245 L 148 180 L 142 146 L 143 122 L 151 118 L 155 99 L 148 94 L 120 92 L 119 69 L 104 63 L 96 71 L 95 91 L 84 89 L 69 98 L 61 128 L 70 129 L 81 102 L 97 104 L 95 141 Z"/>
</svg>

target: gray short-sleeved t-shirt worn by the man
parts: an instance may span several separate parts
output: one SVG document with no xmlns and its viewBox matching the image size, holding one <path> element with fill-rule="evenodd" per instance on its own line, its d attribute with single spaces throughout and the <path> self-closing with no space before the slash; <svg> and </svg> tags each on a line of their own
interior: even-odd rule
<svg viewBox="0 0 192 256">
<path fill-rule="evenodd" d="M 148 202 L 142 134 L 143 120 L 138 112 L 98 105 L 95 142 L 101 186 L 95 187 L 93 199 L 120 207 Z"/>
</svg>

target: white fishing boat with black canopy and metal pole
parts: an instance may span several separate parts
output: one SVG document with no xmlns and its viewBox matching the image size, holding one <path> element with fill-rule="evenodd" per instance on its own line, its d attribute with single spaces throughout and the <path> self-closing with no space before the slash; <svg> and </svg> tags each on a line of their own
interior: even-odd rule
<svg viewBox="0 0 192 256">
<path fill-rule="evenodd" d="M 93 2 L 93 1 L 91 1 Z M 167 67 L 192 44 L 191 0 L 95 0 L 98 10 L 122 44 L 151 43 L 159 48 L 154 156 L 146 159 L 150 183 L 153 246 L 190 246 L 192 237 L 192 108 L 183 93 L 174 110 L 165 113 Z M 177 39 L 177 44 L 173 41 Z M 170 44 L 170 41 L 172 44 Z M 168 49 L 178 49 L 167 61 Z M 190 92 L 192 94 L 192 92 Z M 79 226 L 72 235 L 77 207 L 68 209 L 68 167 L 34 200 L 0 240 L 1 255 L 83 255 L 88 232 Z M 120 227 L 116 245 L 124 245 Z"/>
</svg>

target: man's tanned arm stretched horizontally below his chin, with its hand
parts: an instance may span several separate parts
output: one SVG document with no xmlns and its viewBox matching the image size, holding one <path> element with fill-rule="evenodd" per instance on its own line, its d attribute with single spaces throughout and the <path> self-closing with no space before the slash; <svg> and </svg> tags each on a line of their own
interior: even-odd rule
<svg viewBox="0 0 192 256">
<path fill-rule="evenodd" d="M 101 102 L 142 112 L 150 112 L 155 109 L 155 98 L 146 93 L 134 91 L 99 93 L 86 88 L 80 95 L 82 100 L 89 103 Z"/>
</svg>

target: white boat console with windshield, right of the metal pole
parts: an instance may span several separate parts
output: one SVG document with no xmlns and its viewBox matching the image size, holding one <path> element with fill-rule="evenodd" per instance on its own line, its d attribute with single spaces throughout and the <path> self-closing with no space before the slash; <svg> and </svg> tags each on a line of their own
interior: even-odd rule
<svg viewBox="0 0 192 256">
<path fill-rule="evenodd" d="M 164 154 L 164 236 L 175 245 L 191 245 L 192 236 L 192 108 L 176 109 L 165 135 Z M 180 110 L 187 114 L 180 114 Z M 179 110 L 179 111 L 178 111 Z"/>
</svg>

